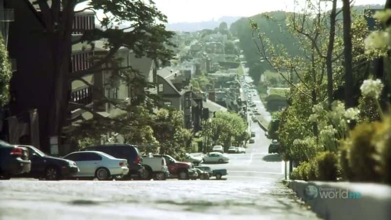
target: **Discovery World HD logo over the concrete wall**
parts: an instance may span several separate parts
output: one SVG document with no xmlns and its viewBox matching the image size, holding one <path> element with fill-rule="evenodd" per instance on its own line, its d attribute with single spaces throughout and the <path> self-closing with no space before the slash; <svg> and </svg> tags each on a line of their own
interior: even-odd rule
<svg viewBox="0 0 391 220">
<path fill-rule="evenodd" d="M 360 192 L 350 191 L 348 189 L 322 188 L 309 184 L 304 189 L 304 198 L 312 200 L 315 198 L 323 199 L 359 199 L 362 198 Z"/>
</svg>

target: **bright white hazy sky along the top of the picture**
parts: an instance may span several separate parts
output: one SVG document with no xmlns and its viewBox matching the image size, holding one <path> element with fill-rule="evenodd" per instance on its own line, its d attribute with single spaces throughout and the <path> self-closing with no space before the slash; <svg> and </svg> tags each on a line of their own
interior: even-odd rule
<svg viewBox="0 0 391 220">
<path fill-rule="evenodd" d="M 303 0 L 299 0 L 303 1 Z M 201 22 L 222 16 L 252 16 L 262 12 L 293 11 L 294 0 L 154 0 L 169 23 Z M 386 0 L 355 0 L 359 4 L 384 4 Z M 328 3 L 329 5 L 331 2 Z M 339 4 L 342 2 L 339 0 Z"/>
</svg>

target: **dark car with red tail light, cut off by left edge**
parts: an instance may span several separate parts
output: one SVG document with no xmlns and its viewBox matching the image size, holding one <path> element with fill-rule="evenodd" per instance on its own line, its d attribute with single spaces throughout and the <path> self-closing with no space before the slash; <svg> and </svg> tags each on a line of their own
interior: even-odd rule
<svg viewBox="0 0 391 220">
<path fill-rule="evenodd" d="M 30 169 L 31 161 L 26 148 L 0 140 L 0 179 L 28 173 Z"/>
</svg>

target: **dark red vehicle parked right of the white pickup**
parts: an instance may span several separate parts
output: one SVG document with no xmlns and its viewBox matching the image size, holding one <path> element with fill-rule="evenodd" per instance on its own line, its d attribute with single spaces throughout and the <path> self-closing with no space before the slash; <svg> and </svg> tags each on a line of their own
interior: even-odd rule
<svg viewBox="0 0 391 220">
<path fill-rule="evenodd" d="M 198 177 L 198 173 L 194 170 L 192 163 L 176 161 L 172 156 L 167 154 L 153 155 L 153 157 L 164 157 L 166 159 L 171 178 L 189 179 Z"/>
</svg>

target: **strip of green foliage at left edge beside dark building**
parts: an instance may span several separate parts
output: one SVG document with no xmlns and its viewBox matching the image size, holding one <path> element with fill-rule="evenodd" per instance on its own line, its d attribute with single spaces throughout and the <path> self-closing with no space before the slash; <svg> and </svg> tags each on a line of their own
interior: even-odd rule
<svg viewBox="0 0 391 220">
<path fill-rule="evenodd" d="M 8 60 L 7 48 L 0 35 L 0 108 L 9 101 L 9 81 L 12 77 L 11 64 Z"/>
</svg>

